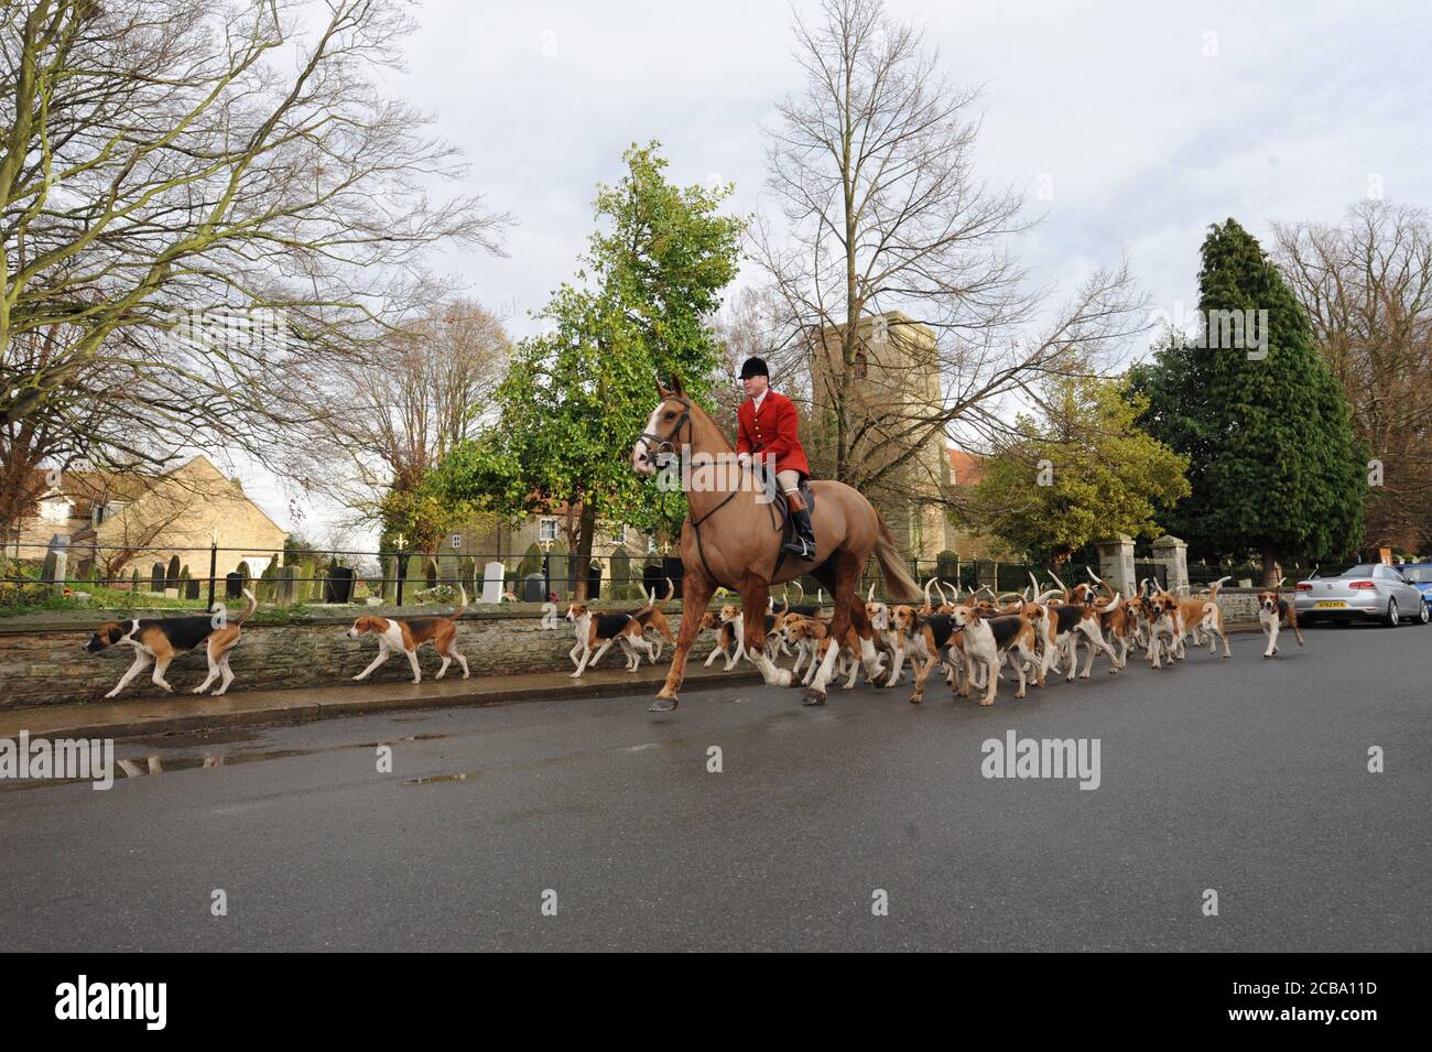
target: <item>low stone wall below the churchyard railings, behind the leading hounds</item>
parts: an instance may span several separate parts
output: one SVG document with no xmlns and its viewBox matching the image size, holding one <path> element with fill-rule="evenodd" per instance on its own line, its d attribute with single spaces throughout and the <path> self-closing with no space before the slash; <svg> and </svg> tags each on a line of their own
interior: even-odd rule
<svg viewBox="0 0 1432 1052">
<path fill-rule="evenodd" d="M 680 630 L 680 613 L 667 611 L 672 634 Z M 233 686 L 239 690 L 282 690 L 292 687 L 332 687 L 347 683 L 377 656 L 378 644 L 371 635 L 345 638 L 352 620 L 291 625 L 245 625 L 243 638 L 233 648 L 229 667 Z M 458 621 L 458 647 L 467 657 L 473 676 L 500 676 L 537 671 L 571 671 L 567 657 L 576 643 L 573 627 L 558 621 L 557 630 L 543 628 L 536 614 L 497 615 L 484 611 Z M 113 690 L 119 677 L 133 661 L 135 651 L 110 647 L 99 654 L 86 654 L 83 647 L 90 630 L 69 625 L 16 631 L 0 621 L 0 708 L 29 708 L 42 704 L 95 701 Z M 702 633 L 692 650 L 695 656 L 710 653 L 712 633 Z M 611 647 L 601 658 L 603 668 L 620 668 L 623 657 Z M 667 663 L 672 647 L 663 640 L 662 661 Z M 418 653 L 424 680 L 437 673 L 441 658 L 431 644 Z M 192 651 L 169 666 L 168 680 L 179 696 L 198 687 L 208 674 L 202 651 Z M 368 681 L 402 681 L 411 677 L 408 661 L 394 654 Z M 448 678 L 461 677 L 454 663 Z M 123 698 L 160 697 L 149 673 L 136 677 L 120 696 Z"/>
</svg>

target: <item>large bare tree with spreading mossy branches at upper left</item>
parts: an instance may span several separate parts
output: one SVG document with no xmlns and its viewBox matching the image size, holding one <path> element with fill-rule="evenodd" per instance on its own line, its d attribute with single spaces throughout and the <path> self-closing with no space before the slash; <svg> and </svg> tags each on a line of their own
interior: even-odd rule
<svg viewBox="0 0 1432 1052">
<path fill-rule="evenodd" d="M 410 29 L 395 0 L 332 0 L 316 21 L 298 0 L 0 10 L 17 464 L 159 467 L 219 439 L 266 459 L 276 428 L 325 414 L 302 395 L 411 313 L 430 245 L 500 250 L 507 216 L 435 202 L 455 149 L 377 87 Z"/>
</svg>

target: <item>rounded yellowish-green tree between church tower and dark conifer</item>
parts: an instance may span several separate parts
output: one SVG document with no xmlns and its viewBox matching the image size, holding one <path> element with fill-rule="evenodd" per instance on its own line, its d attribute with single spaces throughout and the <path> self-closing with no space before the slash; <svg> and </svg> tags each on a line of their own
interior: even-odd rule
<svg viewBox="0 0 1432 1052">
<path fill-rule="evenodd" d="M 1158 508 L 1189 494 L 1189 461 L 1136 427 L 1144 399 L 1083 376 L 1051 382 L 1044 404 L 984 462 L 964 524 L 1051 564 L 1116 532 L 1157 534 Z"/>
</svg>

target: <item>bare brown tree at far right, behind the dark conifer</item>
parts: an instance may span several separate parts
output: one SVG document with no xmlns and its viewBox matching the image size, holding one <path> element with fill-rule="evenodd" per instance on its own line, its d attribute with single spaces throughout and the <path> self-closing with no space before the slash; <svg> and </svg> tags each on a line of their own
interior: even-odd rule
<svg viewBox="0 0 1432 1052">
<path fill-rule="evenodd" d="M 1276 223 L 1274 259 L 1380 461 L 1370 547 L 1416 548 L 1432 521 L 1432 228 L 1422 209 L 1365 200 L 1339 226 Z"/>
</svg>

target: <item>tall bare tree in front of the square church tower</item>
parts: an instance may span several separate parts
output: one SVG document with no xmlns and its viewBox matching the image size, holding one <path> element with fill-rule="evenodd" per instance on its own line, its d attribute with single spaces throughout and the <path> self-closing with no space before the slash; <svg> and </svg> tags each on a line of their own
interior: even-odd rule
<svg viewBox="0 0 1432 1052">
<path fill-rule="evenodd" d="M 785 226 L 759 225 L 750 249 L 782 315 L 772 354 L 808 362 L 836 478 L 939 500 L 947 437 L 1005 434 L 1011 399 L 1087 371 L 1143 328 L 1141 303 L 1118 266 L 1044 311 L 1007 249 L 1021 198 L 974 172 L 977 92 L 878 0 L 798 17 L 795 57 L 805 87 L 768 152 Z"/>
</svg>

